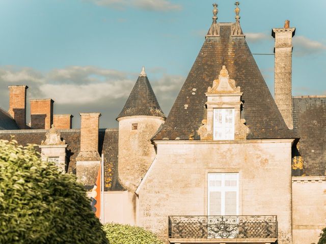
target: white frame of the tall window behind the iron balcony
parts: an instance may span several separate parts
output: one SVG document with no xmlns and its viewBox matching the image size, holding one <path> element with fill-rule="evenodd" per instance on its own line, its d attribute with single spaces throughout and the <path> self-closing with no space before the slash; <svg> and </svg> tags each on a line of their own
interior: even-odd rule
<svg viewBox="0 0 326 244">
<path fill-rule="evenodd" d="M 235 174 L 236 175 L 236 187 L 225 186 L 225 175 Z M 210 175 L 221 175 L 222 184 L 220 187 L 210 186 L 209 176 Z M 225 216 L 225 192 L 236 192 L 236 215 L 239 215 L 239 173 L 208 173 L 207 175 L 207 216 L 210 216 L 210 192 L 221 192 L 221 216 Z"/>
</svg>

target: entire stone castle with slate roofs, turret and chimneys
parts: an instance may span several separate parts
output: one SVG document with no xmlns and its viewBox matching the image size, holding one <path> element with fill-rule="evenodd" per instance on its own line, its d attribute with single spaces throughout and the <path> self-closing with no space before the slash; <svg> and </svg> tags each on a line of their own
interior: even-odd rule
<svg viewBox="0 0 326 244">
<path fill-rule="evenodd" d="M 0 139 L 35 143 L 44 160 L 92 189 L 104 156 L 104 222 L 139 225 L 166 243 L 317 243 L 326 226 L 326 96 L 292 97 L 292 38 L 273 28 L 275 96 L 240 26 L 213 22 L 166 117 L 143 68 L 118 129 L 100 113 L 53 114 L 51 99 L 9 87 Z M 294 47 L 295 48 L 295 47 Z M 313 82 L 313 81 L 312 81 Z"/>
</svg>

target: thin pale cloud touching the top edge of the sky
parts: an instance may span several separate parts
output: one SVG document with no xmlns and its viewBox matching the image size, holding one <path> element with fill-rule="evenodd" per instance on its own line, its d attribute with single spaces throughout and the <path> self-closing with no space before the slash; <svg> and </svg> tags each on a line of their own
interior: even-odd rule
<svg viewBox="0 0 326 244">
<path fill-rule="evenodd" d="M 181 10 L 181 6 L 171 3 L 168 0 L 88 0 L 98 6 L 113 7 L 117 9 L 125 9 L 134 7 L 147 11 L 174 11 Z"/>
</svg>

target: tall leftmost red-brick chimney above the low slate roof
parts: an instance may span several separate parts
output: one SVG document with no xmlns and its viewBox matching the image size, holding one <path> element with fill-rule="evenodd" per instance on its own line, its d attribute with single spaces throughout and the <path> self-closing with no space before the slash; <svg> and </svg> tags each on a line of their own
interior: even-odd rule
<svg viewBox="0 0 326 244">
<path fill-rule="evenodd" d="M 27 85 L 9 86 L 9 114 L 20 129 L 26 129 L 26 89 Z"/>
</svg>

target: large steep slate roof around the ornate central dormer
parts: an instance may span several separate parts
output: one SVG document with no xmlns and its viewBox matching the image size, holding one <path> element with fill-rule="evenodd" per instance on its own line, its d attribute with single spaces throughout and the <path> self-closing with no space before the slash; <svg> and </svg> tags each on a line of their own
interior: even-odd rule
<svg viewBox="0 0 326 244">
<path fill-rule="evenodd" d="M 220 36 L 207 36 L 162 129 L 153 140 L 200 140 L 197 130 L 206 116 L 205 92 L 223 65 L 241 87 L 241 118 L 248 139 L 294 138 L 271 96 L 244 36 L 231 36 L 232 23 L 219 23 Z M 186 108 L 186 109 L 185 109 Z"/>
</svg>

